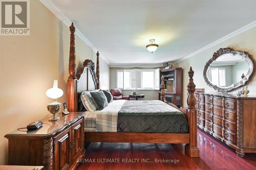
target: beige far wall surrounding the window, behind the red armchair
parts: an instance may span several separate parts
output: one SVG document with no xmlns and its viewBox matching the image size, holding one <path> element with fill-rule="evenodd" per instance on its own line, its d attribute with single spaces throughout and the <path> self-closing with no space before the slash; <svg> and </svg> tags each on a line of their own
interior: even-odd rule
<svg viewBox="0 0 256 170">
<path fill-rule="evenodd" d="M 117 69 L 156 69 L 156 68 L 139 68 L 139 67 L 112 67 L 110 68 L 110 88 L 116 88 L 116 70 Z M 129 95 L 133 91 L 136 91 L 137 94 L 145 94 L 144 99 L 140 100 L 158 100 L 158 90 L 122 90 L 123 95 Z"/>
</svg>

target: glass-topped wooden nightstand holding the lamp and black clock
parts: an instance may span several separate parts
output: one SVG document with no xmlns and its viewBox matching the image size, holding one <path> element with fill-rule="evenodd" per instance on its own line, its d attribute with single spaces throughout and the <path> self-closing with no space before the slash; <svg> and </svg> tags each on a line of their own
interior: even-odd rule
<svg viewBox="0 0 256 170">
<path fill-rule="evenodd" d="M 9 165 L 44 166 L 45 169 L 75 169 L 84 156 L 83 112 L 58 114 L 59 120 L 40 120 L 41 128 L 16 130 L 5 135 L 9 142 Z"/>
</svg>

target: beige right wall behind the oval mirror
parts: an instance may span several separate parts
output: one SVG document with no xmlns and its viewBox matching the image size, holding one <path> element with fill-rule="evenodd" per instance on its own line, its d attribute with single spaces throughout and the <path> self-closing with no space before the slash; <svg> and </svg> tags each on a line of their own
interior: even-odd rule
<svg viewBox="0 0 256 170">
<path fill-rule="evenodd" d="M 213 88 L 209 87 L 203 78 L 203 69 L 205 63 L 212 57 L 212 54 L 219 50 L 219 48 L 224 48 L 224 47 L 231 47 L 234 50 L 238 51 L 245 51 L 247 52 L 251 59 L 254 62 L 254 68 L 256 67 L 255 60 L 256 60 L 256 28 L 250 29 L 236 37 L 233 37 L 229 40 L 226 40 L 218 45 L 215 45 L 191 58 L 188 58 L 186 60 L 183 60 L 179 63 L 176 64 L 177 67 L 182 67 L 184 71 L 184 76 L 183 76 L 183 105 L 186 104 L 186 85 L 188 83 L 188 69 L 189 66 L 193 67 L 193 70 L 195 71 L 194 75 L 194 82 L 196 84 L 196 88 L 205 88 L 206 91 L 212 92 L 215 91 Z M 251 80 L 247 83 L 248 89 L 250 90 L 250 95 L 256 95 L 256 76 L 255 73 L 254 75 L 251 76 Z M 236 90 L 232 91 L 233 93 L 236 92 Z"/>
</svg>

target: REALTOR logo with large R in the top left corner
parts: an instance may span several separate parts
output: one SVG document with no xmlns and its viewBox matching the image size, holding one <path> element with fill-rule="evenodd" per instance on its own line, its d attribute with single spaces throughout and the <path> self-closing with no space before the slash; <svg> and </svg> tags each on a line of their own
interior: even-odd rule
<svg viewBox="0 0 256 170">
<path fill-rule="evenodd" d="M 29 1 L 0 0 L 0 35 L 29 35 Z"/>
</svg>

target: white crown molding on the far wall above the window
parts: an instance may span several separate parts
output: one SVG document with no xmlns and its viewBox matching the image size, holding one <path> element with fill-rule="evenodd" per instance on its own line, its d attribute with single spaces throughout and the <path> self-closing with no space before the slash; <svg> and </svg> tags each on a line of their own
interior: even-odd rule
<svg viewBox="0 0 256 170">
<path fill-rule="evenodd" d="M 112 67 L 144 67 L 144 68 L 153 68 L 153 67 L 163 67 L 162 63 L 110 63 L 109 65 Z"/>
</svg>

